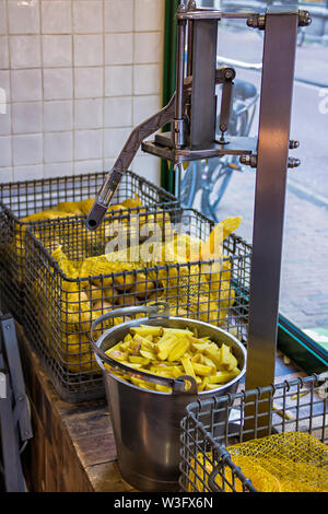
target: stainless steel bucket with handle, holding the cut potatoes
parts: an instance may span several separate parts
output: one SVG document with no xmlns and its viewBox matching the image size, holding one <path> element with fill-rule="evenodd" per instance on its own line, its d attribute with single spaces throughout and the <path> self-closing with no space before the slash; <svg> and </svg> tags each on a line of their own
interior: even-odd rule
<svg viewBox="0 0 328 514">
<path fill-rule="evenodd" d="M 149 315 L 148 318 L 115 326 L 106 330 L 95 342 L 94 330 L 106 319 L 143 312 Z M 197 328 L 200 338 L 209 337 L 220 346 L 224 342 L 233 348 L 241 374 L 218 389 L 198 393 L 192 376 L 184 375 L 175 379 L 152 375 L 132 370 L 105 353 L 121 341 L 131 327 L 140 325 Z M 121 476 L 139 491 L 178 491 L 180 422 L 186 416 L 186 407 L 198 398 L 235 393 L 246 371 L 245 348 L 237 339 L 218 327 L 195 319 L 171 317 L 168 305 L 164 302 L 150 306 L 126 307 L 104 314 L 92 325 L 91 343 L 104 374 Z M 104 363 L 113 371 L 124 371 L 131 376 L 172 387 L 173 393 L 137 387 L 114 375 Z M 185 390 L 186 382 L 191 384 L 188 390 Z"/>
</svg>

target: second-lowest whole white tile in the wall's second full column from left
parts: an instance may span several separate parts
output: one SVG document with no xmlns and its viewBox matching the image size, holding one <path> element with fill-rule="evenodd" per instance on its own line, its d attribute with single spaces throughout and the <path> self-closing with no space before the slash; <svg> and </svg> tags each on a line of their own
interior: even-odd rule
<svg viewBox="0 0 328 514">
<path fill-rule="evenodd" d="M 73 126 L 73 104 L 71 101 L 44 103 L 44 130 L 55 132 L 71 130 Z"/>
</svg>

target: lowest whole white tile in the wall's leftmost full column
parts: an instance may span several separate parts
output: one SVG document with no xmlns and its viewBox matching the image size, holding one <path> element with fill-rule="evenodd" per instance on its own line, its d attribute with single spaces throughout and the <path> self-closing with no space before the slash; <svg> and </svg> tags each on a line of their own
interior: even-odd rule
<svg viewBox="0 0 328 514">
<path fill-rule="evenodd" d="M 43 160 L 43 135 L 13 136 L 13 164 L 39 164 Z"/>
</svg>

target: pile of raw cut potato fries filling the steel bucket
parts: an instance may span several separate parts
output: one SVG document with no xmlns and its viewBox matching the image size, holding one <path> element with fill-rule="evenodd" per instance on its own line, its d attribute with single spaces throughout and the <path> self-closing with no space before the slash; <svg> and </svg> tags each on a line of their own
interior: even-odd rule
<svg viewBox="0 0 328 514">
<path fill-rule="evenodd" d="M 106 353 L 132 369 L 154 375 L 167 378 L 191 375 L 199 392 L 218 389 L 241 373 L 230 346 L 219 347 L 209 338 L 199 339 L 188 328 L 132 327 L 125 339 Z M 169 387 L 114 372 L 106 363 L 105 367 L 141 388 L 172 393 Z"/>
</svg>

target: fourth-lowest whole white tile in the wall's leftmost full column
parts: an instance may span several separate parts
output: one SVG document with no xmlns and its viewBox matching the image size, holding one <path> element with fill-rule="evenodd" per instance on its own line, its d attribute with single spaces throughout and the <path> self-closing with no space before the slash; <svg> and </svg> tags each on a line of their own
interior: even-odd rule
<svg viewBox="0 0 328 514">
<path fill-rule="evenodd" d="M 11 68 L 39 68 L 39 36 L 11 36 L 9 39 Z"/>
</svg>

